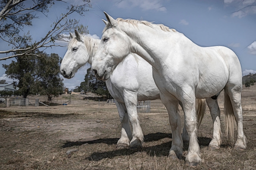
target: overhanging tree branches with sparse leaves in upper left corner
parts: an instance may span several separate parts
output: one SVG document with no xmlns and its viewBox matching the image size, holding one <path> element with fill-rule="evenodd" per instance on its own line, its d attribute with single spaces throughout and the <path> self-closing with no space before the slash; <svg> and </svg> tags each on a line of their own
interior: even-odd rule
<svg viewBox="0 0 256 170">
<path fill-rule="evenodd" d="M 25 1 L 27 2 L 24 4 Z M 29 1 L 32 1 L 34 5 L 28 6 L 28 4 L 32 4 L 28 3 Z M 37 18 L 36 14 L 38 12 L 45 15 L 45 13 L 49 12 L 49 7 L 54 3 L 65 2 L 65 0 L 0 0 L 0 2 L 2 5 L 0 6 L 0 38 L 7 42 L 8 45 L 12 45 L 12 49 L 0 51 L 0 54 L 11 54 L 0 58 L 0 60 L 21 55 L 33 55 L 33 51 L 38 48 L 65 47 L 55 43 L 56 41 L 67 41 L 64 39 L 68 39 L 69 36 L 64 36 L 64 33 L 68 33 L 74 28 L 81 33 L 88 33 L 86 26 L 79 25 L 79 20 L 68 19 L 68 16 L 74 12 L 84 16 L 83 12 L 88 11 L 88 8 L 91 7 L 90 0 L 83 0 L 84 4 L 82 5 L 69 4 L 67 12 L 57 17 L 51 26 L 52 29 L 37 42 L 33 42 L 29 31 L 27 34 L 20 35 L 20 30 L 24 26 L 33 26 L 32 20 Z M 4 6 L 3 4 L 6 5 Z M 45 16 L 47 17 L 47 15 Z"/>
</svg>

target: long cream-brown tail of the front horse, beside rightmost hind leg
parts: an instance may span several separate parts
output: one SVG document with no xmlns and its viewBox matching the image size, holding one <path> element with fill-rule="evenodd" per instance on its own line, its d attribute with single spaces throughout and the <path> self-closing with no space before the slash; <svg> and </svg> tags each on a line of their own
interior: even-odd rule
<svg viewBox="0 0 256 170">
<path fill-rule="evenodd" d="M 224 115 L 225 115 L 225 135 L 228 139 L 228 134 L 230 138 L 230 142 L 234 140 L 234 121 L 235 115 L 232 107 L 232 103 L 228 92 L 224 89 Z"/>
</svg>

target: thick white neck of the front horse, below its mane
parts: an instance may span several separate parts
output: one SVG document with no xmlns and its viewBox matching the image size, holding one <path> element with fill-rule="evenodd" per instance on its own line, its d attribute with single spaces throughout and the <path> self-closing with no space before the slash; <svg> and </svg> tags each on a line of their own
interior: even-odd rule
<svg viewBox="0 0 256 170">
<path fill-rule="evenodd" d="M 143 24 L 127 26 L 121 29 L 129 36 L 131 41 L 131 52 L 140 55 L 144 60 L 158 70 L 160 63 L 170 54 L 170 47 L 175 46 L 175 32 L 163 31 L 159 26 L 153 28 Z M 177 34 L 177 33 L 176 33 Z"/>
</svg>

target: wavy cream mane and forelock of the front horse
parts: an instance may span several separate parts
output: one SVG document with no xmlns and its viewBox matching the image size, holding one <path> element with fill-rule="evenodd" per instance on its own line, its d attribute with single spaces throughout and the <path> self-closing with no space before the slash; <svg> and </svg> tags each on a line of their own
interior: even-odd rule
<svg viewBox="0 0 256 170">
<path fill-rule="evenodd" d="M 117 18 L 116 19 L 118 21 L 118 24 L 119 22 L 127 22 L 129 24 L 132 24 L 133 26 L 137 26 L 139 24 L 144 24 L 145 26 L 150 26 L 150 27 L 153 27 L 153 26 L 159 26 L 163 31 L 165 32 L 170 32 L 170 28 L 168 26 L 164 26 L 163 24 L 153 24 L 153 22 L 148 22 L 148 21 L 140 21 L 140 20 L 137 20 L 137 19 L 123 19 L 123 18 Z M 110 28 L 111 25 L 108 23 L 103 32 L 105 32 L 108 28 Z M 177 32 L 175 29 L 171 29 L 173 32 Z"/>
</svg>

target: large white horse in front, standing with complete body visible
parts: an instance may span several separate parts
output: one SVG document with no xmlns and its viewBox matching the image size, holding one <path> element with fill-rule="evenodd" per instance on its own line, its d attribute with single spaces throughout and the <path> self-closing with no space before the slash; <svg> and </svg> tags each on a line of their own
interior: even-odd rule
<svg viewBox="0 0 256 170">
<path fill-rule="evenodd" d="M 115 20 L 107 13 L 105 15 L 109 23 L 92 61 L 92 70 L 98 79 L 108 80 L 118 63 L 130 53 L 140 55 L 152 65 L 153 78 L 168 110 L 172 127 L 171 158 L 182 155 L 179 101 L 183 106 L 189 136 L 186 164 L 197 166 L 202 161 L 196 137 L 196 99 L 206 99 L 210 110 L 214 112 L 214 127 L 218 130 L 213 131 L 216 140 L 211 141 L 211 144 L 219 146 L 220 112 L 217 100 L 213 99 L 223 89 L 226 119 L 232 120 L 235 116 L 238 126 L 235 149 L 246 148 L 241 106 L 242 69 L 232 50 L 223 46 L 200 47 L 184 34 L 162 24 L 134 19 Z M 232 121 L 229 123 L 226 122 L 226 135 L 231 129 L 232 138 L 234 124 Z"/>
</svg>

